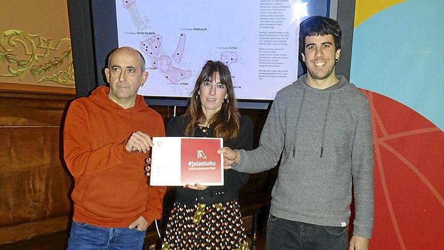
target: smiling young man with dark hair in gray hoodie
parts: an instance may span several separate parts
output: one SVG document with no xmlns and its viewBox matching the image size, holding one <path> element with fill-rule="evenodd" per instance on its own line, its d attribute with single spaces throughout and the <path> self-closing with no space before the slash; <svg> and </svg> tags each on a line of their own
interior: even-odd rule
<svg viewBox="0 0 444 250">
<path fill-rule="evenodd" d="M 259 147 L 224 147 L 219 153 L 226 166 L 247 173 L 271 169 L 281 159 L 271 193 L 267 250 L 366 250 L 373 226 L 368 101 L 335 73 L 341 53 L 338 22 L 310 17 L 299 32 L 307 74 L 276 94 Z M 355 219 L 349 241 L 352 190 Z"/>
</svg>

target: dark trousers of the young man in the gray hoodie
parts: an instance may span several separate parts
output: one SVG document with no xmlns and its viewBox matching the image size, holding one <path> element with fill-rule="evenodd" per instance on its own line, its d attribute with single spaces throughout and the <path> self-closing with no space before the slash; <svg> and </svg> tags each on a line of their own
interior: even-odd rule
<svg viewBox="0 0 444 250">
<path fill-rule="evenodd" d="M 347 227 L 330 227 L 290 221 L 270 215 L 267 250 L 347 250 Z"/>
</svg>

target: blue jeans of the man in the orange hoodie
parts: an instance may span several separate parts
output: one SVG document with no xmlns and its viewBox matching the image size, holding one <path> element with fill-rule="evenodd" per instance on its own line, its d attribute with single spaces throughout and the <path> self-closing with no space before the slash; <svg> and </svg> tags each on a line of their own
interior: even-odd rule
<svg viewBox="0 0 444 250">
<path fill-rule="evenodd" d="M 136 228 L 96 227 L 73 221 L 68 239 L 68 250 L 140 250 L 145 231 Z"/>
</svg>

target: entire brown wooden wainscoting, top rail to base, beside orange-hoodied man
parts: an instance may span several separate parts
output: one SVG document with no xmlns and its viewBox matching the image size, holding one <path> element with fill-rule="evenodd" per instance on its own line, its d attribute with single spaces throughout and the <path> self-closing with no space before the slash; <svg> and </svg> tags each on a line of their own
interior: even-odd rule
<svg viewBox="0 0 444 250">
<path fill-rule="evenodd" d="M 65 230 L 60 124 L 73 94 L 0 90 L 0 244 Z"/>
</svg>

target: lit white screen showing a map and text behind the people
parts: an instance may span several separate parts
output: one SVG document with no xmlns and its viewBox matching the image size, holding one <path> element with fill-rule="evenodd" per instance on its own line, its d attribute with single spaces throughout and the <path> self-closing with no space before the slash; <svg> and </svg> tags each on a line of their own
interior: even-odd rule
<svg viewBox="0 0 444 250">
<path fill-rule="evenodd" d="M 119 46 L 146 62 L 139 94 L 188 97 L 207 60 L 229 67 L 237 98 L 273 99 L 297 78 L 298 20 L 287 0 L 116 0 L 116 17 Z"/>
</svg>

